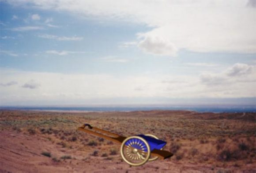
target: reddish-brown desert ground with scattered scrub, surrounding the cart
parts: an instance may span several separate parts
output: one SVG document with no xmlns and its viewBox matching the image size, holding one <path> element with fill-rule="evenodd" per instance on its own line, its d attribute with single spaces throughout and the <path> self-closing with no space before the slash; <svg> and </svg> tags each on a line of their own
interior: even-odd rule
<svg viewBox="0 0 256 173">
<path fill-rule="evenodd" d="M 120 145 L 77 131 L 153 134 L 171 158 L 134 167 Z M 255 173 L 256 113 L 0 110 L 0 173 Z"/>
</svg>

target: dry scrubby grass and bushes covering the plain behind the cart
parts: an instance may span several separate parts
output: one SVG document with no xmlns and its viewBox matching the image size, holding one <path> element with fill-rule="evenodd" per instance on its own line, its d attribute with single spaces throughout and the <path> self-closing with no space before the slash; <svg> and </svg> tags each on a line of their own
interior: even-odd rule
<svg viewBox="0 0 256 173">
<path fill-rule="evenodd" d="M 76 129 L 88 123 L 123 136 L 154 134 L 165 140 L 173 162 L 211 165 L 256 163 L 255 113 L 195 113 L 190 111 L 60 113 L 0 111 L 0 129 L 41 135 L 56 145 L 90 150 L 95 157 L 116 159 L 119 146 Z M 246 119 L 247 117 L 247 119 Z M 113 156 L 109 158 L 108 155 Z M 169 162 L 169 160 L 166 160 Z"/>
</svg>

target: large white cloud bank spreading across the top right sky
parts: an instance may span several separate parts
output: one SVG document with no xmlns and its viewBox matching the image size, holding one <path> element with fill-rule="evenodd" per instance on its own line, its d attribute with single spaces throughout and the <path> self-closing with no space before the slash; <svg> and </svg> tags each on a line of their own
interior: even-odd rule
<svg viewBox="0 0 256 173">
<path fill-rule="evenodd" d="M 141 33 L 139 48 L 157 55 L 193 52 L 256 53 L 255 1 L 244 0 L 9 0 L 42 9 L 68 11 L 153 27 Z M 162 41 L 162 39 L 165 41 Z M 163 45 L 166 49 L 159 47 Z M 152 48 L 152 51 L 151 49 Z M 161 48 L 161 49 L 160 49 Z"/>
</svg>

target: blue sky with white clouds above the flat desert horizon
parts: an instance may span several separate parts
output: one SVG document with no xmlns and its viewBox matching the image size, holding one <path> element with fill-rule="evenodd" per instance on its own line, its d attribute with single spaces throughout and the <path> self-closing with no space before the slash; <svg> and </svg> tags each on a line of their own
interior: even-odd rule
<svg viewBox="0 0 256 173">
<path fill-rule="evenodd" d="M 256 105 L 256 0 L 0 0 L 0 105 Z"/>
</svg>

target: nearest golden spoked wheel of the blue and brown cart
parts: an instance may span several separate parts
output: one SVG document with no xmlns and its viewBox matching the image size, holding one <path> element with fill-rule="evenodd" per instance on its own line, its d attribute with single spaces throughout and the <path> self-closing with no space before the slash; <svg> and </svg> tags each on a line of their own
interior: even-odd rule
<svg viewBox="0 0 256 173">
<path fill-rule="evenodd" d="M 132 166 L 143 165 L 151 154 L 149 144 L 140 136 L 131 136 L 124 139 L 120 151 L 124 161 Z"/>
</svg>

